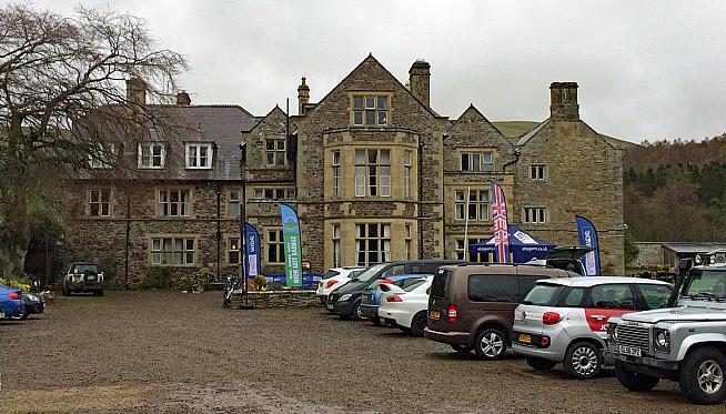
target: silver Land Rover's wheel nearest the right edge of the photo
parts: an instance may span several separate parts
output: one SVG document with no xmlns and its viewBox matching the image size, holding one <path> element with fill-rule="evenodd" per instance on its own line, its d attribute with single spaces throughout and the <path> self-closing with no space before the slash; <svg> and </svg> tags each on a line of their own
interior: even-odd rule
<svg viewBox="0 0 726 414">
<path fill-rule="evenodd" d="M 726 356 L 715 347 L 699 347 L 686 355 L 680 368 L 680 390 L 694 404 L 718 404 L 726 396 Z"/>
</svg>

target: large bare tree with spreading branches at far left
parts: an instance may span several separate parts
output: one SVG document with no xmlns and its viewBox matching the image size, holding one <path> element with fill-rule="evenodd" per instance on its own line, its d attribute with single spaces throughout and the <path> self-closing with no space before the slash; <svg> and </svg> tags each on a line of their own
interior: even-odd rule
<svg viewBox="0 0 726 414">
<path fill-rule="evenodd" d="M 131 16 L 0 9 L 0 275 L 22 272 L 32 215 L 53 210 L 46 178 L 112 159 L 110 141 L 148 131 L 153 114 L 127 99 L 125 82 L 163 103 L 185 69 Z"/>
</svg>

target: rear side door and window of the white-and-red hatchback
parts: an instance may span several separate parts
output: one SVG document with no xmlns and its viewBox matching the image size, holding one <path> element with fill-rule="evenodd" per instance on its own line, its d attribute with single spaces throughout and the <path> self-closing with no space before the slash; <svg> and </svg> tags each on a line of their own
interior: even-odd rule
<svg viewBox="0 0 726 414">
<path fill-rule="evenodd" d="M 603 283 L 589 289 L 585 302 L 585 319 L 591 331 L 607 337 L 607 321 L 637 311 L 636 292 L 628 283 Z"/>
</svg>

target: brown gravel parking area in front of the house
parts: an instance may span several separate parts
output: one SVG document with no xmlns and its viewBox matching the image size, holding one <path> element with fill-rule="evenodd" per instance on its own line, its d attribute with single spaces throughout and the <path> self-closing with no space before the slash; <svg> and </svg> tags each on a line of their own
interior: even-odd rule
<svg viewBox="0 0 726 414">
<path fill-rule="evenodd" d="M 0 412 L 724 413 L 677 385 L 535 373 L 322 309 L 232 311 L 221 293 L 57 297 L 0 323 Z"/>
</svg>

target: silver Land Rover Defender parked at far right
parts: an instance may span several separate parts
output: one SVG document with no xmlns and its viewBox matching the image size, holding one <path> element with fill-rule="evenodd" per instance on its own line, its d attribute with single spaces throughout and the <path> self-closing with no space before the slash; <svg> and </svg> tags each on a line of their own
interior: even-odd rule
<svg viewBox="0 0 726 414">
<path fill-rule="evenodd" d="M 670 306 L 611 319 L 607 356 L 631 391 L 677 381 L 694 404 L 726 397 L 726 263 L 697 256 L 676 284 Z"/>
</svg>

